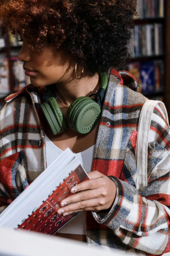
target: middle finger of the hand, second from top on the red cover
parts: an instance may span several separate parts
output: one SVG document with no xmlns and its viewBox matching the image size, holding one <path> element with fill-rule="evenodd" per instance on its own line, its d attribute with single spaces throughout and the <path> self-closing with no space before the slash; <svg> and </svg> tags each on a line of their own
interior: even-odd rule
<svg viewBox="0 0 170 256">
<path fill-rule="evenodd" d="M 85 201 L 85 200 L 89 200 L 89 199 L 93 199 L 93 198 L 98 198 L 99 196 L 101 196 L 100 188 L 93 189 L 93 191 L 91 191 L 91 190 L 81 191 L 72 196 L 68 196 L 67 198 L 65 198 L 64 200 L 61 201 L 60 205 L 61 205 L 61 207 L 64 207 L 71 203 Z"/>
</svg>

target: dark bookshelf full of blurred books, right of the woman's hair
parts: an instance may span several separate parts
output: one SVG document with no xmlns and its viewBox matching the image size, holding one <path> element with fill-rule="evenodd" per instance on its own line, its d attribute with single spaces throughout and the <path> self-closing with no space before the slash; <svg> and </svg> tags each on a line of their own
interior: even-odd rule
<svg viewBox="0 0 170 256">
<path fill-rule="evenodd" d="M 156 7 L 158 7 L 157 11 L 156 11 Z M 155 8 L 155 9 L 154 9 Z M 157 13 L 156 13 L 157 12 Z M 133 46 L 134 49 L 132 47 L 132 49 L 134 50 L 134 57 L 132 58 L 132 60 L 130 61 L 130 63 L 127 64 L 126 67 L 124 67 L 125 70 L 130 71 L 133 74 L 134 71 L 134 75 L 135 77 L 137 77 L 137 75 L 139 76 L 138 78 L 141 79 L 141 93 L 144 94 L 146 97 L 148 97 L 149 99 L 158 99 L 158 100 L 162 100 L 167 108 L 168 114 L 170 116 L 170 106 L 169 106 L 169 100 L 170 100 L 170 72 L 168 70 L 168 67 L 170 66 L 170 58 L 169 58 L 169 54 L 170 54 L 170 21 L 169 21 L 169 17 L 170 17 L 170 1 L 169 0 L 138 0 L 138 16 L 135 17 L 134 19 L 134 24 L 135 24 L 135 32 L 134 32 L 134 42 Z M 152 29 L 153 29 L 153 33 L 154 35 L 152 36 L 149 35 L 148 36 L 148 29 L 149 27 L 149 34 L 152 33 Z M 160 30 L 159 28 L 160 27 Z M 139 30 L 143 28 L 145 28 L 145 44 L 146 47 L 148 47 L 149 49 L 145 49 L 145 51 L 143 51 L 143 49 L 141 50 L 141 52 L 139 51 L 138 48 L 142 48 L 142 43 L 141 41 L 143 41 L 143 38 L 141 38 L 141 35 L 137 35 L 136 37 L 136 28 L 140 28 Z M 157 31 L 159 30 L 159 32 L 157 33 L 157 37 L 155 38 L 155 30 L 157 29 Z M 137 32 L 139 34 L 139 32 Z M 142 34 L 143 36 L 143 34 Z M 160 41 L 160 38 L 162 39 L 162 45 L 160 46 L 160 43 L 158 43 Z M 148 40 L 148 41 L 147 41 Z M 136 43 L 138 42 L 138 43 Z M 151 46 L 149 46 L 149 44 L 151 44 Z M 155 44 L 157 44 L 157 46 L 155 46 Z M 158 45 L 159 47 L 161 47 L 161 51 L 159 52 L 158 49 Z M 152 49 L 152 47 L 154 49 Z M 143 54 L 143 53 L 147 54 Z M 154 64 L 155 67 L 156 65 L 161 65 L 161 70 L 159 69 L 158 72 L 158 68 L 156 71 L 156 68 L 154 70 L 154 74 L 152 74 L 152 76 L 154 77 L 150 77 L 150 80 L 154 80 L 153 82 L 153 86 L 152 89 L 149 91 L 149 86 L 145 87 L 144 84 L 144 79 L 142 79 L 142 75 L 141 72 L 144 72 L 146 70 L 149 70 L 149 65 L 147 66 L 147 63 L 149 65 Z M 139 73 L 136 73 L 137 70 L 137 65 L 140 67 L 138 69 L 140 69 L 140 75 Z M 129 70 L 129 67 L 131 67 L 131 70 Z M 134 68 L 134 70 L 132 69 L 132 67 Z M 145 72 L 146 75 L 146 72 Z M 158 83 L 158 78 L 159 78 L 159 83 Z M 140 84 L 140 81 L 138 81 Z M 159 86 L 157 88 L 157 85 Z M 151 88 L 151 87 L 150 87 Z M 147 89 L 147 90 L 146 90 Z"/>
</svg>

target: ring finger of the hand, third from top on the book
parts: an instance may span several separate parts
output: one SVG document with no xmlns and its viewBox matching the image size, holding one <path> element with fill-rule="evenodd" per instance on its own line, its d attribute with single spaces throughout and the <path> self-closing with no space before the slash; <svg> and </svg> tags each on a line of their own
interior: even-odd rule
<svg viewBox="0 0 170 256">
<path fill-rule="evenodd" d="M 62 208 L 60 208 L 57 213 L 58 214 L 63 214 L 63 213 L 68 213 L 68 212 L 79 212 L 79 211 L 84 211 L 84 209 L 89 208 L 89 207 L 95 207 L 98 206 L 98 199 L 90 199 L 82 202 L 77 202 L 73 204 L 66 205 Z"/>
</svg>

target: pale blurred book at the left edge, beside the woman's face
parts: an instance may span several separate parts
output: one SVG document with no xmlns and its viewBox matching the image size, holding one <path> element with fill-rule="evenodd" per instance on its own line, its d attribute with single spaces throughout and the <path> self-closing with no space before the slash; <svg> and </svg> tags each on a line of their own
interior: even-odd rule
<svg viewBox="0 0 170 256">
<path fill-rule="evenodd" d="M 8 58 L 0 56 L 0 98 L 10 93 L 9 88 L 9 61 Z"/>
</svg>

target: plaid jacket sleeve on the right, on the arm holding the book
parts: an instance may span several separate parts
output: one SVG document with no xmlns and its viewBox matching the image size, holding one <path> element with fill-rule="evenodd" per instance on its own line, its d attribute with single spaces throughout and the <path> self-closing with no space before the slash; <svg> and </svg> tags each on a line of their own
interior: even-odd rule
<svg viewBox="0 0 170 256">
<path fill-rule="evenodd" d="M 132 150 L 127 151 L 123 167 L 129 174 L 132 174 L 129 166 L 135 166 L 131 153 Z M 116 184 L 116 199 L 109 212 L 93 212 L 95 220 L 112 229 L 137 252 L 154 255 L 169 252 L 170 129 L 159 106 L 153 111 L 149 132 L 147 189 L 139 193 L 133 182 L 109 178 Z"/>
</svg>

